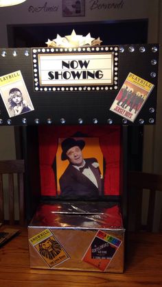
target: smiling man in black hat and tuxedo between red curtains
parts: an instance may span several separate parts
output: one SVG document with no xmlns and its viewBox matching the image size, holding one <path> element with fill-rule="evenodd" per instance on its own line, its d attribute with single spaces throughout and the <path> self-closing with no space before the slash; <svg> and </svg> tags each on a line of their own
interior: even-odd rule
<svg viewBox="0 0 162 287">
<path fill-rule="evenodd" d="M 60 195 L 72 199 L 95 199 L 102 195 L 103 179 L 95 158 L 82 156 L 84 140 L 66 138 L 62 141 L 62 160 L 69 166 L 60 177 Z"/>
</svg>

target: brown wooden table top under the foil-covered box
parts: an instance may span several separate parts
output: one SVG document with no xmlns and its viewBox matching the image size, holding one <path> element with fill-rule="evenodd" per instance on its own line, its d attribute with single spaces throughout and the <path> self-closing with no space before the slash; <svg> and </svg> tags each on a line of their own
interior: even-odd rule
<svg viewBox="0 0 162 287">
<path fill-rule="evenodd" d="M 162 234 L 130 234 L 124 274 L 30 269 L 27 229 L 0 249 L 1 287 L 162 286 Z"/>
</svg>

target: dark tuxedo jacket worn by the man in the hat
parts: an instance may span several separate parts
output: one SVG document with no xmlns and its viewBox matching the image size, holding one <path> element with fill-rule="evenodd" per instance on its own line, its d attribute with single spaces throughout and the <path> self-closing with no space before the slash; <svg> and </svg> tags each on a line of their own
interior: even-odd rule
<svg viewBox="0 0 162 287">
<path fill-rule="evenodd" d="M 102 195 L 103 192 L 103 179 L 100 169 L 94 167 L 93 162 L 97 162 L 95 158 L 84 159 L 93 175 L 97 180 L 97 186 L 91 182 L 81 171 L 78 171 L 72 164 L 67 166 L 67 169 L 60 177 L 60 195 L 65 198 L 73 199 L 95 199 Z"/>
</svg>

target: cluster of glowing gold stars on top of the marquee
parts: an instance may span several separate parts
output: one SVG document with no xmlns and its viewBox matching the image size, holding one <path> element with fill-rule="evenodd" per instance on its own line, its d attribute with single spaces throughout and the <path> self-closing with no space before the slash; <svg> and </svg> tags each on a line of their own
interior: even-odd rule
<svg viewBox="0 0 162 287">
<path fill-rule="evenodd" d="M 56 39 L 49 40 L 45 42 L 47 47 L 82 47 L 82 46 L 97 46 L 100 45 L 102 40 L 100 37 L 97 39 L 92 38 L 91 34 L 87 34 L 85 37 L 82 35 L 77 35 L 75 30 L 71 32 L 71 35 L 61 37 L 57 34 Z"/>
</svg>

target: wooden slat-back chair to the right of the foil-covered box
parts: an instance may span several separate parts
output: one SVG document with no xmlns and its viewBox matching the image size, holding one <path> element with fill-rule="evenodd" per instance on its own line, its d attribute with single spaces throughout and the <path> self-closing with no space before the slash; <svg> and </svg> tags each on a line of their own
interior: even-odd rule
<svg viewBox="0 0 162 287">
<path fill-rule="evenodd" d="M 152 232 L 156 193 L 157 191 L 162 191 L 162 175 L 130 171 L 128 173 L 128 194 L 131 194 L 132 188 L 135 190 L 134 201 L 132 203 L 134 205 L 134 210 L 136 210 L 135 229 L 146 229 L 147 231 Z M 147 225 L 144 228 L 141 225 L 143 189 L 148 191 L 148 216 Z M 159 232 L 162 232 L 162 214 Z"/>
</svg>

